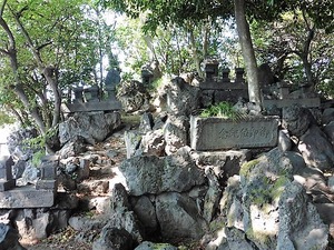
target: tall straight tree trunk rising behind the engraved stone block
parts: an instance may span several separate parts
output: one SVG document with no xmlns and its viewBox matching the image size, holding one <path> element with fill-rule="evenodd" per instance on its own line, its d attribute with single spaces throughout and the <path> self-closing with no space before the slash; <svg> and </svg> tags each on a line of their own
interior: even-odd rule
<svg viewBox="0 0 334 250">
<path fill-rule="evenodd" d="M 256 104 L 262 107 L 262 94 L 258 83 L 257 64 L 252 43 L 249 26 L 246 20 L 245 0 L 234 0 L 234 7 L 237 32 L 247 73 L 249 101 L 255 102 Z"/>
</svg>

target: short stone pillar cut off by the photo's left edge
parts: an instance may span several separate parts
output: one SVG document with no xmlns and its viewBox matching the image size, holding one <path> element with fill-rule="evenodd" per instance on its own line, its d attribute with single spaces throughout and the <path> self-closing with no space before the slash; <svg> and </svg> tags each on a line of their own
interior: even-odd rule
<svg viewBox="0 0 334 250">
<path fill-rule="evenodd" d="M 12 178 L 11 167 L 13 161 L 11 157 L 0 158 L 0 192 L 13 189 L 16 187 L 16 180 Z"/>
</svg>

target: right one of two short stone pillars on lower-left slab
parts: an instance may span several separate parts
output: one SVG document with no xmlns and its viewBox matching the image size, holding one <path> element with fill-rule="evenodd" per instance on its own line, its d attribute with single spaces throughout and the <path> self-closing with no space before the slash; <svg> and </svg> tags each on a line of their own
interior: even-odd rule
<svg viewBox="0 0 334 250">
<path fill-rule="evenodd" d="M 40 166 L 40 179 L 36 183 L 37 190 L 57 191 L 57 167 L 59 166 L 59 157 L 46 156 Z"/>
</svg>

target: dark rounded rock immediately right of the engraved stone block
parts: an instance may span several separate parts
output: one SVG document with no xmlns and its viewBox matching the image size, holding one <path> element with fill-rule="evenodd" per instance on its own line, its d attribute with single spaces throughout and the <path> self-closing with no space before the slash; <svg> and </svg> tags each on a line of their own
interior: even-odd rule
<svg viewBox="0 0 334 250">
<path fill-rule="evenodd" d="M 283 108 L 282 126 L 292 136 L 303 136 L 312 123 L 316 123 L 308 109 L 297 104 Z"/>
</svg>

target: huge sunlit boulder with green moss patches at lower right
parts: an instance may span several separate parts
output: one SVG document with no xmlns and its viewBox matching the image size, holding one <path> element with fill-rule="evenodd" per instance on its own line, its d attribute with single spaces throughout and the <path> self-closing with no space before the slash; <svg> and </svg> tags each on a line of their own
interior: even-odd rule
<svg viewBox="0 0 334 250">
<path fill-rule="evenodd" d="M 219 236 L 227 227 L 245 234 L 246 249 L 326 249 L 328 227 L 303 186 L 293 180 L 295 162 L 276 148 L 243 164 L 240 178 L 230 178 L 220 201 L 222 220 L 226 222 L 216 224 L 217 234 L 207 244 L 225 249 L 226 242 L 235 242 L 235 233 L 233 238 L 229 233 Z M 222 246 L 215 241 L 219 237 L 225 239 Z M 244 237 L 238 239 L 239 246 L 245 243 Z"/>
</svg>

